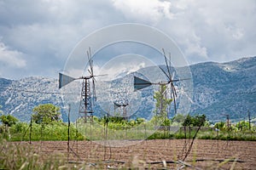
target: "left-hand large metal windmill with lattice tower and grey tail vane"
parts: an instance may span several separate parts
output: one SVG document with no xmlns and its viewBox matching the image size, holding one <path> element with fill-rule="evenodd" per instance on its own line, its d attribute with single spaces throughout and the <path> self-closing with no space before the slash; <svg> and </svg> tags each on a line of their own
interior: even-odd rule
<svg viewBox="0 0 256 170">
<path fill-rule="evenodd" d="M 67 75 L 64 75 L 62 73 L 59 73 L 59 88 L 62 88 L 63 86 L 66 86 L 68 83 L 73 82 L 75 80 L 82 80 L 82 89 L 81 89 L 81 97 L 80 97 L 80 105 L 79 105 L 79 114 L 84 117 L 84 122 L 92 122 L 93 120 L 93 110 L 92 106 L 94 105 L 94 102 L 96 101 L 96 88 L 95 88 L 95 75 L 93 73 L 93 60 L 90 53 L 90 48 L 87 51 L 87 57 L 89 62 L 89 76 L 82 76 L 78 78 L 69 77 Z M 92 80 L 90 87 L 90 79 Z M 91 98 L 91 90 L 92 88 L 92 96 Z"/>
</svg>

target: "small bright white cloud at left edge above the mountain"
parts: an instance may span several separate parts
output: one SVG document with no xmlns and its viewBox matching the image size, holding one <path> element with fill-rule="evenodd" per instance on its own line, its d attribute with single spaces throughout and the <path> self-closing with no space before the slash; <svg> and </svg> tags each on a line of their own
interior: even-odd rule
<svg viewBox="0 0 256 170">
<path fill-rule="evenodd" d="M 0 42 L 0 61 L 2 67 L 18 67 L 22 68 L 26 66 L 26 60 L 22 59 L 22 53 L 18 51 L 9 50 L 3 42 Z"/>
</svg>

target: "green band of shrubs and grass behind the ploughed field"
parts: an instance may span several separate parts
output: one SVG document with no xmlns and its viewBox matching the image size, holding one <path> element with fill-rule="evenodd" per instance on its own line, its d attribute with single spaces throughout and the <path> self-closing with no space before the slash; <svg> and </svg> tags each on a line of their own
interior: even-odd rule
<svg viewBox="0 0 256 170">
<path fill-rule="evenodd" d="M 165 87 L 162 90 L 165 90 Z M 171 101 L 166 100 L 166 104 L 169 102 Z M 2 122 L 0 139 L 9 141 L 67 140 L 68 124 L 61 122 L 60 115 L 60 108 L 50 104 L 35 107 L 31 122 L 20 122 L 15 116 L 2 115 L 0 116 Z M 174 130 L 173 127 L 175 127 Z M 200 130 L 197 133 L 199 127 Z M 76 124 L 70 123 L 69 138 L 71 140 L 192 139 L 196 133 L 197 139 L 256 140 L 255 132 L 256 127 L 253 124 L 249 125 L 246 121 L 230 126 L 227 126 L 226 122 L 217 122 L 214 126 L 210 126 L 205 115 L 177 114 L 169 119 L 166 112 L 162 110 L 149 121 L 143 118 L 125 120 L 119 116 L 104 116 L 94 117 L 94 123 L 90 125 L 90 123 L 84 123 L 83 119 L 79 119 Z"/>
</svg>

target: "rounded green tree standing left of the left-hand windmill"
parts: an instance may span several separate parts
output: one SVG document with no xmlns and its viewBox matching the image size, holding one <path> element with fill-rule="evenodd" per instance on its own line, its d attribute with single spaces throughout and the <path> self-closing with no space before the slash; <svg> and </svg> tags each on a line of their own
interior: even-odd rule
<svg viewBox="0 0 256 170">
<path fill-rule="evenodd" d="M 33 109 L 32 120 L 36 123 L 61 121 L 60 107 L 52 104 L 38 105 Z"/>
</svg>

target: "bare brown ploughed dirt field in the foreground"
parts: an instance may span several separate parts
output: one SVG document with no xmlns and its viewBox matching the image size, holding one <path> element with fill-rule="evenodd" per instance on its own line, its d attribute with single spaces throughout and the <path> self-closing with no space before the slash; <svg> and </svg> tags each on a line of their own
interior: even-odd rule
<svg viewBox="0 0 256 170">
<path fill-rule="evenodd" d="M 256 141 L 196 139 L 192 150 L 184 159 L 191 141 L 189 139 L 131 141 L 135 143 L 134 145 L 125 144 L 128 141 L 119 141 L 125 145 L 123 147 L 105 147 L 90 141 L 71 141 L 69 151 L 67 151 L 67 141 L 32 142 L 32 146 L 38 147 L 44 156 L 61 153 L 68 161 L 96 163 L 95 168 L 177 169 L 186 164 L 185 169 L 256 169 Z M 113 142 L 117 141 L 108 141 L 109 144 Z"/>
</svg>

